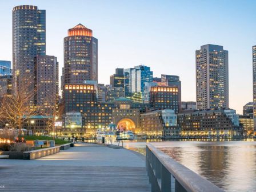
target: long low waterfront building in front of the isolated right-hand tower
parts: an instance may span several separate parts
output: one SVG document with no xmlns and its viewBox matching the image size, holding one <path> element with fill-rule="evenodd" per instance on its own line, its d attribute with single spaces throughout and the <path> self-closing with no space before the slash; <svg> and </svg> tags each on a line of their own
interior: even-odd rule
<svg viewBox="0 0 256 192">
<path fill-rule="evenodd" d="M 183 111 L 178 114 L 178 126 L 183 137 L 240 138 L 243 129 L 235 110 Z"/>
</svg>

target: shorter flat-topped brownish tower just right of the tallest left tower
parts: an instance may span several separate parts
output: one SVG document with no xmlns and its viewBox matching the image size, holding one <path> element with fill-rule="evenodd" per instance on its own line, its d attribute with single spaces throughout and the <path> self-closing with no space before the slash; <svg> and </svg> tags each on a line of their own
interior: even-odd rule
<svg viewBox="0 0 256 192">
<path fill-rule="evenodd" d="M 41 115 L 54 115 L 59 95 L 59 73 L 57 58 L 37 55 L 37 107 Z"/>
</svg>

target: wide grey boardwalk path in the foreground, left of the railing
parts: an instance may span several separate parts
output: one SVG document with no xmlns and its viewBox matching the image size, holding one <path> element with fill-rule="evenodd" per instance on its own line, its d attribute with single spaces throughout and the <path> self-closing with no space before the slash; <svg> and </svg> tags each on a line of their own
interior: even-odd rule
<svg viewBox="0 0 256 192">
<path fill-rule="evenodd" d="M 0 191 L 151 191 L 141 155 L 77 144 L 35 160 L 0 159 Z"/>
</svg>

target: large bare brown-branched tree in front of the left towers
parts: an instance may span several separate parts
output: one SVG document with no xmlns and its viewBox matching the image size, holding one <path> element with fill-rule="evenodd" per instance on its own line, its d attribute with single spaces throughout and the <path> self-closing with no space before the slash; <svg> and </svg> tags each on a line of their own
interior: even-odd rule
<svg viewBox="0 0 256 192">
<path fill-rule="evenodd" d="M 20 86 L 15 93 L 2 99 L 2 119 L 13 128 L 19 129 L 31 116 L 36 115 L 34 106 L 35 89 L 29 91 L 29 85 Z"/>
</svg>

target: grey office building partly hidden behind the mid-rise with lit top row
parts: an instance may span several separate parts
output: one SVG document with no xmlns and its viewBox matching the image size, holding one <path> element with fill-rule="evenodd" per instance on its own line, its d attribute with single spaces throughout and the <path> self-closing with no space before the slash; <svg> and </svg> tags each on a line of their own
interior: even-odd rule
<svg viewBox="0 0 256 192">
<path fill-rule="evenodd" d="M 177 75 L 161 75 L 161 82 L 165 83 L 166 86 L 177 87 L 179 96 L 179 110 L 181 111 L 181 81 Z"/>
</svg>

